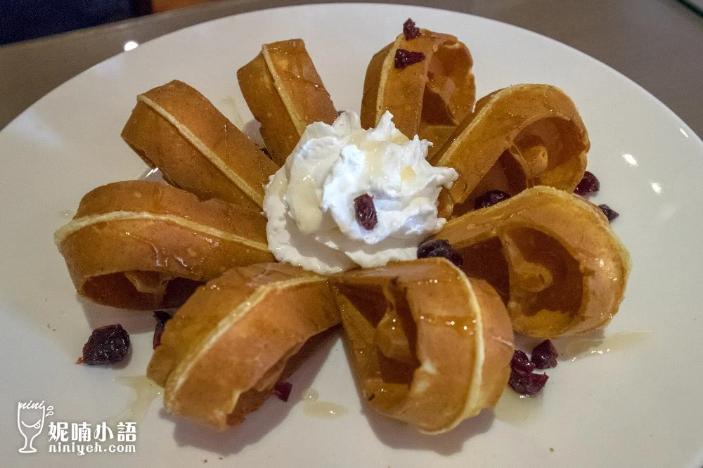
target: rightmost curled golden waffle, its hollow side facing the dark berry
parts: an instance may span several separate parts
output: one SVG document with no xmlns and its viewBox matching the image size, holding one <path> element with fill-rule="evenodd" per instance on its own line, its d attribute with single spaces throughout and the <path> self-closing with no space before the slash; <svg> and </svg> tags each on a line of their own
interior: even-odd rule
<svg viewBox="0 0 703 468">
<path fill-rule="evenodd" d="M 512 327 L 531 337 L 607 325 L 631 268 L 598 207 L 545 186 L 452 219 L 434 238 L 449 240 L 463 271 L 488 281 L 508 304 Z"/>
</svg>

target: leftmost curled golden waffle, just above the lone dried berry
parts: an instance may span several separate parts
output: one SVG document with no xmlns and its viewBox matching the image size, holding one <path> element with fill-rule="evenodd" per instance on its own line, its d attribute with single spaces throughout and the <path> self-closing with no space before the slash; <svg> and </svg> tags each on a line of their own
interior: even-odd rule
<svg viewBox="0 0 703 468">
<path fill-rule="evenodd" d="M 54 238 L 77 292 L 122 308 L 179 306 L 228 268 L 273 261 L 259 212 L 148 181 L 92 190 Z"/>
</svg>

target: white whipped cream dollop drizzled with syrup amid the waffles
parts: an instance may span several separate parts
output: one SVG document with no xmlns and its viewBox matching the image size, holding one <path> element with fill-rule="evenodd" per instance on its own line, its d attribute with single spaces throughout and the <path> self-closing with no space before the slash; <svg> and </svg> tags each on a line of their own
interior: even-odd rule
<svg viewBox="0 0 703 468">
<path fill-rule="evenodd" d="M 266 186 L 266 237 L 278 261 L 321 274 L 417 258 L 418 244 L 444 226 L 437 197 L 458 174 L 433 167 L 432 144 L 402 134 L 386 112 L 375 129 L 344 112 L 315 122 Z M 378 223 L 356 219 L 354 199 L 373 197 Z"/>
</svg>

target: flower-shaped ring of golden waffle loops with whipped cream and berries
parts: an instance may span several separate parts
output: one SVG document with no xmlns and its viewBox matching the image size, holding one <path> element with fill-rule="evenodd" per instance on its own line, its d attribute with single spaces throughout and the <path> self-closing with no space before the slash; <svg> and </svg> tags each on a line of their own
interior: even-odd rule
<svg viewBox="0 0 703 468">
<path fill-rule="evenodd" d="M 122 138 L 167 183 L 98 187 L 55 235 L 83 297 L 178 308 L 158 313 L 147 372 L 167 411 L 238 424 L 342 323 L 363 398 L 437 434 L 508 385 L 541 391 L 557 351 L 529 359 L 513 330 L 582 334 L 617 313 L 629 255 L 617 213 L 581 196 L 598 180 L 560 89 L 475 102 L 469 49 L 411 20 L 371 58 L 360 117 L 337 112 L 300 39 L 264 44 L 238 81 L 265 148 L 188 84 L 159 86 Z M 123 358 L 118 327 L 81 362 Z"/>
</svg>

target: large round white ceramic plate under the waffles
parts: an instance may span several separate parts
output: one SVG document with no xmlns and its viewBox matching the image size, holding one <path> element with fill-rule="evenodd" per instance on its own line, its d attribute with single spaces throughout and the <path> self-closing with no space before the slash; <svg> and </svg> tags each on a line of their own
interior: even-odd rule
<svg viewBox="0 0 703 468">
<path fill-rule="evenodd" d="M 593 143 L 595 202 L 621 216 L 614 230 L 633 271 L 606 335 L 650 330 L 644 342 L 550 370 L 541 408 L 520 424 L 490 411 L 442 436 L 423 436 L 362 405 L 341 343 L 330 342 L 295 375 L 288 403 L 271 398 L 245 424 L 212 434 L 151 405 L 135 454 L 47 453 L 49 422 L 111 420 L 151 354 L 153 318 L 76 297 L 53 231 L 82 195 L 145 167 L 120 139 L 135 96 L 171 79 L 195 86 L 238 125 L 250 112 L 238 67 L 264 42 L 302 37 L 340 109 L 358 110 L 370 57 L 411 16 L 456 34 L 475 60 L 477 95 L 520 82 L 555 84 L 579 106 Z M 703 462 L 700 282 L 703 144 L 636 84 L 574 49 L 517 27 L 425 8 L 318 5 L 238 15 L 169 34 L 71 79 L 0 134 L 0 402 L 3 466 L 499 466 L 699 467 Z M 119 322 L 133 352 L 120 368 L 75 365 L 91 329 Z M 301 392 L 349 410 L 324 420 L 304 414 Z M 54 415 L 20 455 L 19 401 L 46 401 Z M 112 421 L 112 420 L 111 420 Z M 69 434 L 70 436 L 71 434 Z M 210 466 L 210 465 L 208 465 Z"/>
</svg>

